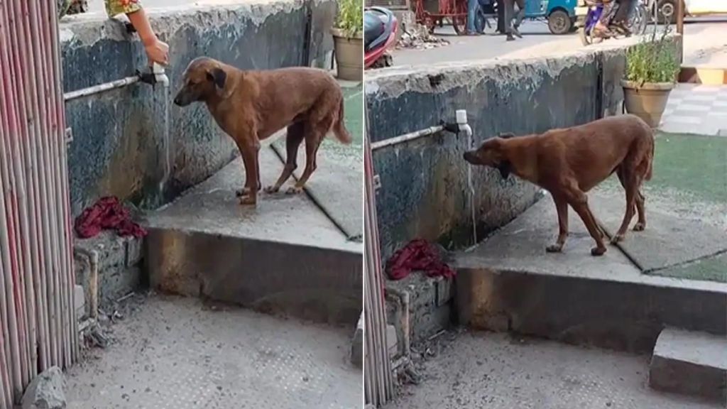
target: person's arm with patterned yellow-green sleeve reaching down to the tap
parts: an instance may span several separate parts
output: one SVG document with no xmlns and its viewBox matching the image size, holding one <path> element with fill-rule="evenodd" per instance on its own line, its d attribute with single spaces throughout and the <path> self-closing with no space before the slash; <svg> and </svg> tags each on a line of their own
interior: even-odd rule
<svg viewBox="0 0 727 409">
<path fill-rule="evenodd" d="M 139 0 L 104 0 L 106 3 L 106 14 L 109 18 L 125 14 L 134 29 L 139 33 L 139 38 L 144 44 L 146 56 L 151 63 L 167 65 L 169 63 L 169 46 L 160 41 L 154 33 L 149 19 L 141 7 Z"/>
</svg>

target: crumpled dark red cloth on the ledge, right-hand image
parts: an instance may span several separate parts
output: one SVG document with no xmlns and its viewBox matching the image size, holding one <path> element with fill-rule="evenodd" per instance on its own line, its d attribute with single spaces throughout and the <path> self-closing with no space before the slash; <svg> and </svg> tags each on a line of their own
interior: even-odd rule
<svg viewBox="0 0 727 409">
<path fill-rule="evenodd" d="M 386 262 L 390 279 L 403 279 L 412 270 L 425 271 L 428 277 L 454 277 L 454 270 L 441 261 L 437 249 L 426 240 L 414 239 Z"/>
</svg>

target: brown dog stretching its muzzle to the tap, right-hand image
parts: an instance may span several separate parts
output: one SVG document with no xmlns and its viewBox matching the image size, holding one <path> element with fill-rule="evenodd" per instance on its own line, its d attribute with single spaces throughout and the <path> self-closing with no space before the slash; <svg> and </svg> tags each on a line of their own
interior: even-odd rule
<svg viewBox="0 0 727 409">
<path fill-rule="evenodd" d="M 512 136 L 486 140 L 476 151 L 465 152 L 465 160 L 497 168 L 503 178 L 513 172 L 550 191 L 560 229 L 555 245 L 546 247 L 549 253 L 560 252 L 566 242 L 569 204 L 595 239 L 596 247 L 591 254 L 606 253 L 586 192 L 614 172 L 626 191 L 626 214 L 611 242 L 624 239 L 635 210 L 638 223 L 634 230 L 646 227 L 644 199 L 639 189 L 643 180 L 651 179 L 654 159 L 654 133 L 646 122 L 632 115 L 611 116 L 541 135 Z"/>
</svg>

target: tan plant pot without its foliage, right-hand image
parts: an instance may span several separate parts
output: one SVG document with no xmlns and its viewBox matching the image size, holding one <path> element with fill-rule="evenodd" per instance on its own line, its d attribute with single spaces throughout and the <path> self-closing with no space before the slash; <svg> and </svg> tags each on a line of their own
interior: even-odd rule
<svg viewBox="0 0 727 409">
<path fill-rule="evenodd" d="M 626 111 L 643 119 L 648 126 L 658 127 L 674 84 L 671 82 L 638 84 L 622 80 L 621 86 L 624 88 Z"/>
</svg>

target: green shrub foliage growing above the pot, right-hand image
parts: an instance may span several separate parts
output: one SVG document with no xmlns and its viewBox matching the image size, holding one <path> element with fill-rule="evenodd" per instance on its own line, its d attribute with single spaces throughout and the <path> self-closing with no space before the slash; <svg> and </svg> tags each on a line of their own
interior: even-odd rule
<svg viewBox="0 0 727 409">
<path fill-rule="evenodd" d="M 656 30 L 651 36 L 631 47 L 626 53 L 626 79 L 645 82 L 675 82 L 680 69 L 676 47 L 667 37 L 669 26 L 657 38 Z"/>
</svg>

